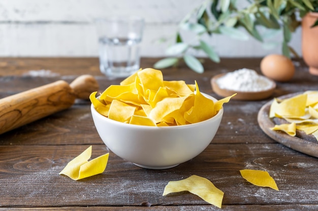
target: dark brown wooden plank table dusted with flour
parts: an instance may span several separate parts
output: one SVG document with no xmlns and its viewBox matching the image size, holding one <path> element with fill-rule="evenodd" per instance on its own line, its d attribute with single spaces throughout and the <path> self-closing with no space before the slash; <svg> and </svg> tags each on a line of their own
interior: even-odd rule
<svg viewBox="0 0 318 211">
<path fill-rule="evenodd" d="M 152 67 L 155 61 L 144 58 L 141 66 Z M 222 59 L 219 64 L 206 61 L 203 74 L 184 65 L 163 73 L 165 80 L 197 80 L 201 92 L 220 99 L 210 86 L 213 75 L 243 67 L 260 71 L 259 64 L 260 59 Z M 273 97 L 318 90 L 318 76 L 310 75 L 302 61 L 295 64 L 295 77 L 277 83 Z M 32 76 L 30 70 L 51 72 Z M 121 81 L 102 75 L 97 58 L 1 58 L 0 98 L 87 73 L 96 76 L 101 91 Z M 269 100 L 231 100 L 207 149 L 177 167 L 147 170 L 110 152 L 103 174 L 73 181 L 58 175 L 71 159 L 90 145 L 92 157 L 109 152 L 94 128 L 90 102 L 77 101 L 68 110 L 0 135 L 0 210 L 219 210 L 187 192 L 162 196 L 169 181 L 191 175 L 225 192 L 222 210 L 318 210 L 318 159 L 263 133 L 257 115 Z M 239 173 L 244 168 L 268 171 L 279 191 L 246 182 Z"/>
</svg>

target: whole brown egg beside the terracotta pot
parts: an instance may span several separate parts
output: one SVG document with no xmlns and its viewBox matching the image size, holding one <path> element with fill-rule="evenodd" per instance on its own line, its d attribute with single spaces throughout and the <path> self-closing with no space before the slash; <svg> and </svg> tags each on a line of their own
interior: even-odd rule
<svg viewBox="0 0 318 211">
<path fill-rule="evenodd" d="M 266 76 L 276 81 L 288 81 L 295 74 L 295 67 L 289 58 L 271 54 L 261 61 L 261 71 Z"/>
</svg>

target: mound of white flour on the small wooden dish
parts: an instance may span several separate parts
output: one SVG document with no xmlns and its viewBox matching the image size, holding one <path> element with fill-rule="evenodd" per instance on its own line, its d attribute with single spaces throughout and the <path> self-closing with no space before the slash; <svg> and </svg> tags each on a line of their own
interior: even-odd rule
<svg viewBox="0 0 318 211">
<path fill-rule="evenodd" d="M 259 92 L 268 90 L 273 85 L 272 81 L 265 76 L 259 75 L 255 70 L 239 69 L 229 72 L 216 80 L 221 89 Z"/>
</svg>

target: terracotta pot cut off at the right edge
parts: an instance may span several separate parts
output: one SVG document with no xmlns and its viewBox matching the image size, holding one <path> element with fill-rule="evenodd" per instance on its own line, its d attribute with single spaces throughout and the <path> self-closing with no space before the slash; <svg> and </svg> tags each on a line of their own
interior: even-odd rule
<svg viewBox="0 0 318 211">
<path fill-rule="evenodd" d="M 302 20 L 302 53 L 309 66 L 309 73 L 318 75 L 318 26 L 310 28 L 318 13 L 308 13 Z"/>
</svg>

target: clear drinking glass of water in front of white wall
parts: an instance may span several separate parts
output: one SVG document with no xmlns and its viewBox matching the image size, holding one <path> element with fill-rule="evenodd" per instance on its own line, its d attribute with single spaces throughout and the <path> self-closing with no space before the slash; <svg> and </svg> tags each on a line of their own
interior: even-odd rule
<svg viewBox="0 0 318 211">
<path fill-rule="evenodd" d="M 96 19 L 101 72 L 110 77 L 126 77 L 140 68 L 142 17 Z"/>
</svg>

